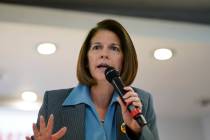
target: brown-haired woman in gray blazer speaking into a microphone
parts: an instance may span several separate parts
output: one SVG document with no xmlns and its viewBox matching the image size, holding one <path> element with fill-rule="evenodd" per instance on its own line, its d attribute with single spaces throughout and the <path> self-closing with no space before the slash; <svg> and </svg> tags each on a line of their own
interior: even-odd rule
<svg viewBox="0 0 210 140">
<path fill-rule="evenodd" d="M 104 72 L 108 66 L 120 72 L 127 91 L 123 99 L 142 109 L 147 126 L 138 125 L 106 80 Z M 34 136 L 26 139 L 159 140 L 151 95 L 129 86 L 137 68 L 136 51 L 124 27 L 110 19 L 99 22 L 80 50 L 79 84 L 45 93 L 38 123 L 33 124 Z"/>
</svg>

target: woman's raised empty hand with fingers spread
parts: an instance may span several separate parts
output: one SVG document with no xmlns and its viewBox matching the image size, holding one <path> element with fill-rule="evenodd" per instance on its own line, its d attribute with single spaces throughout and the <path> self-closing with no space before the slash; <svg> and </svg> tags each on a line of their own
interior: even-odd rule
<svg viewBox="0 0 210 140">
<path fill-rule="evenodd" d="M 67 128 L 62 127 L 58 132 L 52 134 L 54 117 L 50 115 L 47 126 L 43 116 L 40 116 L 38 129 L 36 124 L 33 124 L 34 140 L 59 140 L 66 133 Z M 31 137 L 26 137 L 26 140 L 32 140 Z"/>
</svg>

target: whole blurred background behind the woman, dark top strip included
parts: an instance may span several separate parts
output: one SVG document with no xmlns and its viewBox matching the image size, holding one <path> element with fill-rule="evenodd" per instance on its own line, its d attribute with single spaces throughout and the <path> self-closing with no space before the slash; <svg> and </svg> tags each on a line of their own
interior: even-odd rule
<svg viewBox="0 0 210 140">
<path fill-rule="evenodd" d="M 32 134 L 46 90 L 77 85 L 80 47 L 106 18 L 131 35 L 133 86 L 152 94 L 160 139 L 210 140 L 209 0 L 1 0 L 0 140 Z M 160 48 L 172 57 L 156 59 Z"/>
</svg>

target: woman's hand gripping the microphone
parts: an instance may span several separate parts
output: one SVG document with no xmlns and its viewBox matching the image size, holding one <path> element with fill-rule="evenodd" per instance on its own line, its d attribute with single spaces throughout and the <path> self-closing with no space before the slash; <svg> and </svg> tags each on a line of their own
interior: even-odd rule
<svg viewBox="0 0 210 140">
<path fill-rule="evenodd" d="M 123 96 L 126 105 L 132 103 L 135 107 L 141 109 L 142 108 L 142 103 L 141 103 L 141 100 L 140 100 L 138 94 L 136 92 L 134 92 L 134 90 L 131 87 L 124 87 L 124 90 L 127 91 L 127 93 Z M 118 97 L 118 102 L 121 106 L 124 123 L 131 130 L 133 130 L 135 133 L 137 133 L 137 134 L 140 133 L 141 132 L 141 127 L 139 126 L 137 121 L 132 118 L 129 111 L 127 110 L 127 106 L 122 102 L 120 97 Z"/>
</svg>

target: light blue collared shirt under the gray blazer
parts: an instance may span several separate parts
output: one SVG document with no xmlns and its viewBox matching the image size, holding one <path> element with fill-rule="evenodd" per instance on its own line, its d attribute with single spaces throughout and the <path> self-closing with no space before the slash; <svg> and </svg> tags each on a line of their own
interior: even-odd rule
<svg viewBox="0 0 210 140">
<path fill-rule="evenodd" d="M 99 95 L 100 96 L 100 95 Z M 85 116 L 85 140 L 116 140 L 116 120 L 115 107 L 117 103 L 117 93 L 114 92 L 105 115 L 104 123 L 99 119 L 95 105 L 90 97 L 88 86 L 79 84 L 71 94 L 65 99 L 63 105 L 77 105 L 84 103 L 86 105 Z"/>
</svg>

